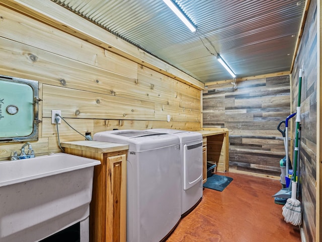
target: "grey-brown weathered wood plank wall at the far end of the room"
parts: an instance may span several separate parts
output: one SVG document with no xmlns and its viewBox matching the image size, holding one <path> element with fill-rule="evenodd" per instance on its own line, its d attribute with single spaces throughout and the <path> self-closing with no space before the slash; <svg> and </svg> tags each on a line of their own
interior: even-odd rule
<svg viewBox="0 0 322 242">
<path fill-rule="evenodd" d="M 289 75 L 233 85 L 207 86 L 203 91 L 203 127 L 228 128 L 229 165 L 238 170 L 280 175 L 285 156 L 281 120 L 290 113 Z"/>
</svg>

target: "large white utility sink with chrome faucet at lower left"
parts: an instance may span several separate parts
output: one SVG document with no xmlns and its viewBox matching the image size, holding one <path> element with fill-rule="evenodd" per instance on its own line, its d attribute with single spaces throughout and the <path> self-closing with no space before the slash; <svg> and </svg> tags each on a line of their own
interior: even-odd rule
<svg viewBox="0 0 322 242">
<path fill-rule="evenodd" d="M 98 160 L 58 153 L 0 161 L 0 242 L 34 242 L 89 216 Z"/>
</svg>

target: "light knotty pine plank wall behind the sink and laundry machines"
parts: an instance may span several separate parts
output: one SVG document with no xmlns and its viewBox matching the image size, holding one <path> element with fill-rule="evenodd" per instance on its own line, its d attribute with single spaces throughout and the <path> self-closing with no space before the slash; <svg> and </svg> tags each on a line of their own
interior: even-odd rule
<svg viewBox="0 0 322 242">
<path fill-rule="evenodd" d="M 35 153 L 59 152 L 51 110 L 85 135 L 112 129 L 200 130 L 201 91 L 0 5 L 0 74 L 39 82 Z M 167 122 L 167 115 L 171 120 Z M 60 142 L 84 137 L 63 121 Z M 0 160 L 21 143 L 0 144 Z"/>
</svg>

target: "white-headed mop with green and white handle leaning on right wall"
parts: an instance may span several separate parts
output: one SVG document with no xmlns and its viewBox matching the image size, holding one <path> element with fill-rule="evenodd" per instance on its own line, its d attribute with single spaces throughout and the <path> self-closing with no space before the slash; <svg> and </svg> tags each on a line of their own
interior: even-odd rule
<svg viewBox="0 0 322 242">
<path fill-rule="evenodd" d="M 291 198 L 287 199 L 283 206 L 283 216 L 287 223 L 291 223 L 295 226 L 301 225 L 302 214 L 301 214 L 301 203 L 296 199 L 297 192 L 297 181 L 296 181 L 296 168 L 297 168 L 297 157 L 298 157 L 298 136 L 299 127 L 301 122 L 301 86 L 302 86 L 302 69 L 299 72 L 299 83 L 298 83 L 298 101 L 296 107 L 296 135 L 294 145 L 294 159 L 293 159 L 293 180 L 292 180 L 292 195 Z"/>
</svg>

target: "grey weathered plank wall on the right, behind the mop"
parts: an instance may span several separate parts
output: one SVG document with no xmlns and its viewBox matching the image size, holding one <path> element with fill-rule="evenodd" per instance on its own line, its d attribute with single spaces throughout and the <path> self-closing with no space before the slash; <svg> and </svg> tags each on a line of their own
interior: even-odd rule
<svg viewBox="0 0 322 242">
<path fill-rule="evenodd" d="M 316 235 L 316 109 L 317 109 L 317 2 L 310 3 L 307 20 L 292 72 L 292 109 L 298 102 L 299 69 L 304 67 L 301 91 L 300 197 L 305 241 Z M 295 127 L 295 120 L 293 120 Z M 320 228 L 319 228 L 320 229 Z"/>
</svg>

